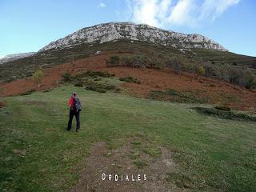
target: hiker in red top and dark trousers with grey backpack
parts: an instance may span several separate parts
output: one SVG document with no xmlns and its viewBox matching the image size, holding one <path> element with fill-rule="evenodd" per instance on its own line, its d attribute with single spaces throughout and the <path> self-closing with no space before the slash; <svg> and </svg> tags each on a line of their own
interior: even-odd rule
<svg viewBox="0 0 256 192">
<path fill-rule="evenodd" d="M 71 95 L 71 98 L 69 100 L 69 106 L 70 106 L 70 119 L 68 122 L 67 130 L 71 130 L 72 126 L 72 120 L 75 116 L 77 120 L 77 128 L 76 131 L 78 132 L 80 130 L 80 111 L 81 111 L 81 102 L 79 98 L 77 97 L 76 93 L 73 93 Z"/>
</svg>

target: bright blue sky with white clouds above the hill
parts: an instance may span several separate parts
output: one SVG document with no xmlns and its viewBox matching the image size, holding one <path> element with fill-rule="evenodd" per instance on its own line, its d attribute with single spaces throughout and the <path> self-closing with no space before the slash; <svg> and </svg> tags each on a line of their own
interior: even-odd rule
<svg viewBox="0 0 256 192">
<path fill-rule="evenodd" d="M 0 0 L 0 57 L 38 51 L 102 22 L 136 22 L 202 34 L 256 56 L 254 0 Z"/>
</svg>

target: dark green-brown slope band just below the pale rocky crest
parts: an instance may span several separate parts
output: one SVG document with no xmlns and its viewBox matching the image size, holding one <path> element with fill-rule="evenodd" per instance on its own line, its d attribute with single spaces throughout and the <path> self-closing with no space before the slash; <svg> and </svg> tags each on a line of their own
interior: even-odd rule
<svg viewBox="0 0 256 192">
<path fill-rule="evenodd" d="M 226 51 L 193 49 L 180 50 L 172 46 L 160 46 L 149 42 L 131 41 L 128 39 L 118 39 L 112 42 L 103 43 L 82 43 L 76 46 L 70 46 L 57 50 L 46 50 L 34 54 L 33 57 L 18 59 L 14 62 L 8 62 L 0 65 L 0 82 L 10 82 L 17 78 L 30 77 L 38 66 L 55 66 L 64 62 L 72 62 L 78 58 L 86 58 L 95 54 L 98 50 L 103 53 L 129 53 L 144 54 L 158 58 L 178 56 L 181 58 L 190 58 L 190 61 L 214 62 L 233 66 L 234 62 L 238 66 L 250 67 L 255 69 L 256 58 L 233 54 Z"/>
</svg>

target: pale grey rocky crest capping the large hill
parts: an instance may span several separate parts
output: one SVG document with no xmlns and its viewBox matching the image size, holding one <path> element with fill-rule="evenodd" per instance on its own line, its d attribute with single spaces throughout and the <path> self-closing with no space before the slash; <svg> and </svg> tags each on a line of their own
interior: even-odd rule
<svg viewBox="0 0 256 192">
<path fill-rule="evenodd" d="M 181 34 L 145 24 L 136 25 L 132 22 L 110 22 L 78 30 L 74 34 L 67 35 L 65 38 L 50 42 L 49 45 L 43 47 L 39 52 L 81 43 L 110 42 L 121 38 L 151 42 L 162 46 L 173 46 L 179 49 L 203 48 L 227 51 L 217 42 L 200 34 Z"/>
</svg>

